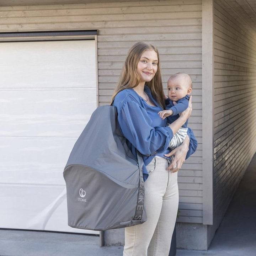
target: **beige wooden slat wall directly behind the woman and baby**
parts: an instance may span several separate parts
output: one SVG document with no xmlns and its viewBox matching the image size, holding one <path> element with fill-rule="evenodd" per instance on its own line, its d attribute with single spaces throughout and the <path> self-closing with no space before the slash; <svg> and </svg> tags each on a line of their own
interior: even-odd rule
<svg viewBox="0 0 256 256">
<path fill-rule="evenodd" d="M 128 49 L 137 41 L 158 47 L 165 88 L 171 74 L 191 75 L 189 126 L 199 145 L 179 171 L 178 221 L 202 223 L 202 1 L 12 6 L 0 7 L 0 17 L 1 32 L 97 29 L 99 105 L 110 102 Z"/>
</svg>

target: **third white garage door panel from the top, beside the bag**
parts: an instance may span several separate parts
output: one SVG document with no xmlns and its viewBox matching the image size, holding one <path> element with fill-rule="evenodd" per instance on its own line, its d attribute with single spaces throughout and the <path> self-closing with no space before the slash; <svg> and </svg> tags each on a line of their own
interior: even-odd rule
<svg viewBox="0 0 256 256">
<path fill-rule="evenodd" d="M 1 183 L 65 185 L 62 172 L 75 142 L 76 138 L 1 138 Z"/>
</svg>

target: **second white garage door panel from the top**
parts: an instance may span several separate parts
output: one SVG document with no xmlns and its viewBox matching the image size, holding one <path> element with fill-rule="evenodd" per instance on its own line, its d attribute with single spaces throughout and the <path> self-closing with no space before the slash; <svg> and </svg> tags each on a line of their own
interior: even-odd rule
<svg viewBox="0 0 256 256">
<path fill-rule="evenodd" d="M 78 137 L 96 109 L 95 95 L 96 89 L 2 91 L 0 136 Z"/>
</svg>

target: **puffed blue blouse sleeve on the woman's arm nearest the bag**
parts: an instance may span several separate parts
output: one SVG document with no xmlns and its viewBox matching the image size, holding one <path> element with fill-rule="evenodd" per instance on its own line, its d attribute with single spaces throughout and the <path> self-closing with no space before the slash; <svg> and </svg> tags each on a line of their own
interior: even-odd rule
<svg viewBox="0 0 256 256">
<path fill-rule="evenodd" d="M 143 155 L 164 152 L 173 137 L 170 127 L 153 127 L 148 113 L 134 101 L 119 108 L 118 122 L 124 137 Z"/>
</svg>

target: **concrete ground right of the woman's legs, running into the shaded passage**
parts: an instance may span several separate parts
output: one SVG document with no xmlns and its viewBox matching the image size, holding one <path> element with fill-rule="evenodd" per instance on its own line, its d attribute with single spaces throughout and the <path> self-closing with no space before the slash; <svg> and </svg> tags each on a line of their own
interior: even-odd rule
<svg viewBox="0 0 256 256">
<path fill-rule="evenodd" d="M 176 256 L 256 256 L 256 154 L 252 158 L 208 251 Z"/>
</svg>

